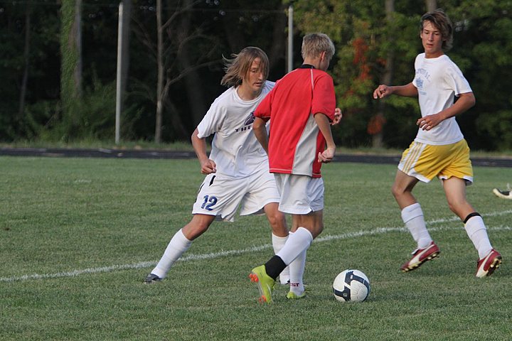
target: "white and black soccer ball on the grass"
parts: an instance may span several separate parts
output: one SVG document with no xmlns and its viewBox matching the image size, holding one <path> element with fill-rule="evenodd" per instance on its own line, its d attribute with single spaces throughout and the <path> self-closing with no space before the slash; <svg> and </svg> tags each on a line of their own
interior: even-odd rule
<svg viewBox="0 0 512 341">
<path fill-rule="evenodd" d="M 359 270 L 345 270 L 334 278 L 333 292 L 340 302 L 363 302 L 370 294 L 370 280 Z"/>
</svg>

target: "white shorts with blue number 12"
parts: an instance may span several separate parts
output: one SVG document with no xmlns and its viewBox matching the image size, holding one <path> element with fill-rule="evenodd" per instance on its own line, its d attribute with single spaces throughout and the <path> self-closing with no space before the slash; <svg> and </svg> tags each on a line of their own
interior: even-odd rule
<svg viewBox="0 0 512 341">
<path fill-rule="evenodd" d="M 270 202 L 279 202 L 279 192 L 268 168 L 245 178 L 211 173 L 199 188 L 192 214 L 215 215 L 217 220 L 233 222 L 238 207 L 240 215 L 260 215 Z"/>
</svg>

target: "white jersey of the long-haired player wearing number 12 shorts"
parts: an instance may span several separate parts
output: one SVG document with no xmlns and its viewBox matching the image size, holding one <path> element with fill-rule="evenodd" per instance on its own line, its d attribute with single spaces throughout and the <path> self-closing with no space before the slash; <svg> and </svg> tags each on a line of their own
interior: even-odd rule
<svg viewBox="0 0 512 341">
<path fill-rule="evenodd" d="M 242 100 L 236 87 L 230 87 L 213 101 L 199 123 L 198 137 L 215 134 L 210 159 L 217 164 L 217 174 L 245 178 L 262 166 L 268 168 L 267 153 L 252 132 L 254 111 L 274 82 L 266 81 L 260 96 Z"/>
</svg>

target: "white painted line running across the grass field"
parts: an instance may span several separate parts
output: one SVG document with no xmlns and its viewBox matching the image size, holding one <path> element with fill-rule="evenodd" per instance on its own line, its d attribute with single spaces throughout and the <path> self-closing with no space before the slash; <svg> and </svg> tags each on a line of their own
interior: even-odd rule
<svg viewBox="0 0 512 341">
<path fill-rule="evenodd" d="M 512 210 L 506 210 L 501 212 L 492 212 L 484 217 L 497 217 L 501 215 L 510 215 L 512 214 Z M 462 226 L 459 227 L 432 227 L 432 224 L 443 224 L 446 222 L 457 222 L 459 221 L 458 217 L 452 217 L 449 219 L 438 219 L 438 220 L 430 220 L 427 222 L 429 226 L 429 231 L 441 231 L 441 230 L 449 230 L 449 229 L 463 229 Z M 491 231 L 511 231 L 512 227 L 510 226 L 493 226 L 487 227 L 487 229 Z M 348 232 L 343 234 L 327 234 L 322 237 L 318 237 L 314 240 L 315 243 L 320 242 L 329 242 L 331 240 L 338 239 L 348 239 L 348 238 L 357 238 L 363 236 L 372 236 L 375 234 L 385 234 L 389 232 L 407 232 L 405 227 L 378 227 L 376 229 L 370 229 L 369 231 L 358 231 L 358 232 Z M 218 251 L 212 252 L 210 254 L 189 254 L 187 256 L 181 257 L 178 261 L 195 261 L 201 259 L 215 259 L 224 256 L 233 256 L 238 254 L 247 254 L 249 252 L 257 252 L 262 251 L 264 249 L 272 248 L 271 244 L 260 245 L 259 247 L 247 247 L 246 249 L 238 249 L 238 250 L 228 250 L 228 251 Z M 72 270 L 65 272 L 56 272 L 54 274 L 30 274 L 23 276 L 12 276 L 12 277 L 0 277 L 0 282 L 15 282 L 15 281 L 28 281 L 28 280 L 36 280 L 36 279 L 46 279 L 46 278 L 59 278 L 59 277 L 74 277 L 80 276 L 83 274 L 100 274 L 102 272 L 112 272 L 112 271 L 121 271 L 127 269 L 142 269 L 149 268 L 156 265 L 156 261 L 142 261 L 136 264 L 121 264 L 121 265 L 112 265 L 112 266 L 102 266 L 99 268 L 89 268 L 89 269 L 81 269 L 81 270 Z"/>
</svg>

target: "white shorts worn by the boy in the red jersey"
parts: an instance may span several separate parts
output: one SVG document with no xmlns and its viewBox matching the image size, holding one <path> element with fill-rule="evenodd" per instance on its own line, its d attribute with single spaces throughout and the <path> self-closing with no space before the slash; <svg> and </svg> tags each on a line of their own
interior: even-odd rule
<svg viewBox="0 0 512 341">
<path fill-rule="evenodd" d="M 324 210 L 324 180 L 308 175 L 274 173 L 281 195 L 279 211 L 291 215 L 306 215 Z"/>
</svg>

